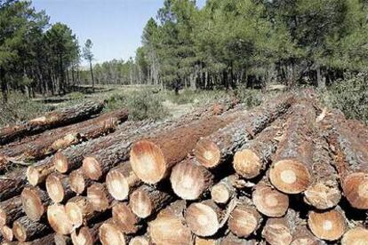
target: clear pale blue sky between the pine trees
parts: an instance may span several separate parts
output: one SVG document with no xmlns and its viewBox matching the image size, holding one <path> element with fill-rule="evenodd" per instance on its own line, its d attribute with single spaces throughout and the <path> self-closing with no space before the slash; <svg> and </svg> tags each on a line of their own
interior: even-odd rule
<svg viewBox="0 0 368 245">
<path fill-rule="evenodd" d="M 93 43 L 95 61 L 129 59 L 140 46 L 142 29 L 156 17 L 164 0 L 33 0 L 36 10 L 45 10 L 51 22 L 73 29 L 79 43 Z M 203 6 L 205 0 L 196 1 Z"/>
</svg>

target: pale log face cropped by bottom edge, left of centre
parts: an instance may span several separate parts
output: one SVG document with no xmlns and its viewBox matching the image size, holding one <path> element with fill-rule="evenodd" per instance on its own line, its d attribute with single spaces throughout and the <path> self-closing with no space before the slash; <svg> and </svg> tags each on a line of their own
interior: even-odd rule
<svg viewBox="0 0 368 245">
<path fill-rule="evenodd" d="M 102 245 L 125 245 L 124 233 L 113 223 L 105 223 L 100 226 L 100 241 Z"/>
</svg>

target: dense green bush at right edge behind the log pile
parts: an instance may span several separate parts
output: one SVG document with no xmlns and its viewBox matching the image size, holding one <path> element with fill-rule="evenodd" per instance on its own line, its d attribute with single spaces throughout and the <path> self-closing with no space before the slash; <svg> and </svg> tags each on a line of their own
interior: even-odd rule
<svg viewBox="0 0 368 245">
<path fill-rule="evenodd" d="M 368 123 L 368 75 L 340 80 L 327 91 L 320 91 L 320 99 L 326 106 L 340 109 L 348 118 Z"/>
</svg>

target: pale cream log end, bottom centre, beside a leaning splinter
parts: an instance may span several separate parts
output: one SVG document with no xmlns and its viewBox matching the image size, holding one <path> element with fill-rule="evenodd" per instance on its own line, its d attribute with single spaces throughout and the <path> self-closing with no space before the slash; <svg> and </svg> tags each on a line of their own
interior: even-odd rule
<svg viewBox="0 0 368 245">
<path fill-rule="evenodd" d="M 220 228 L 216 210 L 203 203 L 192 203 L 185 213 L 189 229 L 199 236 L 211 236 Z"/>
</svg>

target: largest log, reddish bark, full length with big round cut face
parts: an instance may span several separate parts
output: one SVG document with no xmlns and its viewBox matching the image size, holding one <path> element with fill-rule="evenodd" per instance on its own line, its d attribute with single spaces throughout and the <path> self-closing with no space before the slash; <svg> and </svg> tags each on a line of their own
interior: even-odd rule
<svg viewBox="0 0 368 245">
<path fill-rule="evenodd" d="M 235 113 L 236 114 L 236 113 Z M 239 114 L 237 114 L 239 115 Z M 167 177 L 172 167 L 184 160 L 199 138 L 211 134 L 235 119 L 236 115 L 213 116 L 164 130 L 151 138 L 134 143 L 131 150 L 132 170 L 143 182 L 156 184 Z"/>
</svg>

